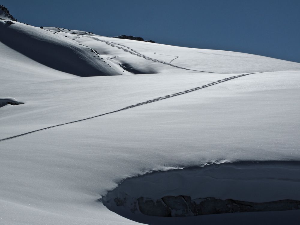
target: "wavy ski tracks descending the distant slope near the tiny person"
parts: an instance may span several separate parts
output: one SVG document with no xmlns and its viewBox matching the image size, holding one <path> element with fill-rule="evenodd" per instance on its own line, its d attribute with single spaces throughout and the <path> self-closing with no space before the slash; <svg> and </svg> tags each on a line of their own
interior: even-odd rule
<svg viewBox="0 0 300 225">
<path fill-rule="evenodd" d="M 78 35 L 78 36 L 87 37 L 87 36 L 85 36 L 85 35 Z M 166 64 L 166 65 L 169 65 L 169 66 L 173 66 L 173 67 L 176 67 L 176 68 L 179 68 L 179 69 L 183 69 L 183 70 L 191 70 L 191 71 L 197 71 L 197 72 L 205 72 L 205 73 L 217 73 L 217 72 L 209 72 L 209 71 L 202 71 L 202 70 L 192 70 L 192 69 L 188 69 L 188 68 L 176 66 L 176 65 L 171 64 L 171 62 L 172 62 L 174 59 L 176 59 L 176 58 L 174 58 L 174 59 L 171 60 L 169 63 L 167 63 L 167 62 L 164 62 L 164 61 L 160 61 L 160 60 L 158 60 L 158 59 L 155 59 L 155 58 L 150 58 L 150 57 L 148 57 L 148 56 L 146 56 L 146 55 L 143 55 L 143 54 L 141 54 L 141 53 L 135 51 L 134 49 L 132 49 L 132 48 L 130 48 L 130 47 L 128 47 L 128 46 L 122 45 L 122 44 L 117 44 L 117 43 L 111 42 L 111 41 L 104 41 L 104 40 L 101 40 L 101 39 L 98 39 L 98 38 L 95 38 L 95 37 L 88 37 L 88 38 L 94 39 L 94 40 L 96 40 L 96 41 L 102 41 L 102 42 L 104 42 L 104 43 L 106 43 L 106 44 L 108 44 L 108 45 L 110 45 L 110 46 L 116 47 L 116 48 L 118 48 L 118 49 L 122 49 L 122 50 L 124 50 L 125 52 L 129 52 L 129 53 L 131 53 L 131 54 L 133 54 L 133 55 L 137 55 L 137 56 L 139 56 L 139 57 L 142 57 L 142 58 L 145 58 L 145 59 L 154 61 L 154 62 L 163 63 L 163 64 Z M 122 46 L 123 46 L 123 47 L 122 47 Z M 178 58 L 178 57 L 177 57 L 177 58 Z"/>
</svg>

